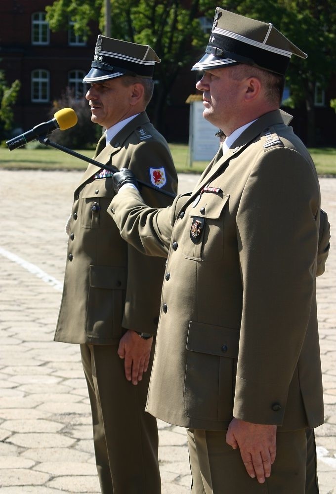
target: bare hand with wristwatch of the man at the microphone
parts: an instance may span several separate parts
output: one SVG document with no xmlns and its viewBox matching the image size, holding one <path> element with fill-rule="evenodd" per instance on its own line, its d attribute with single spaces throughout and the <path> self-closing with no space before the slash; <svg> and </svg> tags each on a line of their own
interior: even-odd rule
<svg viewBox="0 0 336 494">
<path fill-rule="evenodd" d="M 153 338 L 143 339 L 135 331 L 128 329 L 121 338 L 118 355 L 125 359 L 127 381 L 137 384 L 142 374 L 147 371 Z"/>
</svg>

